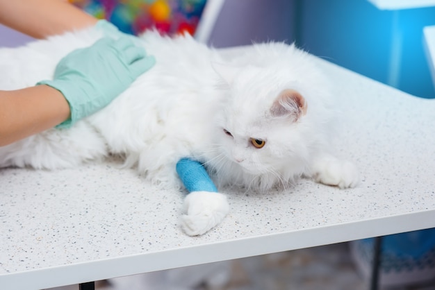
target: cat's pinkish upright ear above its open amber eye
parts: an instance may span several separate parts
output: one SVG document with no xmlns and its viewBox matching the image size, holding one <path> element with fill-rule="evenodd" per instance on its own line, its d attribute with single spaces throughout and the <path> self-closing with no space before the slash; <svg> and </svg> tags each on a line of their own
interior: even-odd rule
<svg viewBox="0 0 435 290">
<path fill-rule="evenodd" d="M 294 89 L 285 89 L 272 104 L 270 112 L 273 117 L 292 117 L 292 119 L 299 119 L 299 117 L 306 114 L 306 101 L 302 94 Z"/>
</svg>

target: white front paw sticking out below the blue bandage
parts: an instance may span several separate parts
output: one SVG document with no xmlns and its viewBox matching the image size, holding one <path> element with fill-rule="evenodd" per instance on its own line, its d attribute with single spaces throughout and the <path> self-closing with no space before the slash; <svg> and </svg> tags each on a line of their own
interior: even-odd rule
<svg viewBox="0 0 435 290">
<path fill-rule="evenodd" d="M 184 198 L 181 228 L 190 236 L 204 234 L 219 224 L 228 212 L 227 196 L 193 191 Z"/>
</svg>

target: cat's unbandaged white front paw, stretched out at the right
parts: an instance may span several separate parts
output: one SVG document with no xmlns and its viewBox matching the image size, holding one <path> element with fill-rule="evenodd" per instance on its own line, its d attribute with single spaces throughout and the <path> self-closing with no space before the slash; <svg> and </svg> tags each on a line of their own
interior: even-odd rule
<svg viewBox="0 0 435 290">
<path fill-rule="evenodd" d="M 359 172 L 352 162 L 325 157 L 315 163 L 313 178 L 324 185 L 334 185 L 343 189 L 358 185 Z"/>
</svg>

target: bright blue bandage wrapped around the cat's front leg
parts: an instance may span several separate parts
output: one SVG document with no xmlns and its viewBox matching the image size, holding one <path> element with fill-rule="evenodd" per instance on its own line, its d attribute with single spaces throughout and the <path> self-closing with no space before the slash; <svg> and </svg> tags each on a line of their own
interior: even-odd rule
<svg viewBox="0 0 435 290">
<path fill-rule="evenodd" d="M 192 191 L 210 191 L 217 192 L 217 188 L 211 181 L 210 176 L 200 162 L 182 158 L 177 163 L 177 173 L 183 182 L 183 185 Z"/>
</svg>

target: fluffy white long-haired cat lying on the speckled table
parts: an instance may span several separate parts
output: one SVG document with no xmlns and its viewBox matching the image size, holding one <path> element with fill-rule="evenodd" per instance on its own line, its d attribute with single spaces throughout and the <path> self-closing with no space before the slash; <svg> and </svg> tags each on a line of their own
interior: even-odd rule
<svg viewBox="0 0 435 290">
<path fill-rule="evenodd" d="M 0 49 L 0 88 L 50 79 L 69 51 L 101 35 L 92 29 Z M 96 114 L 69 129 L 51 129 L 0 147 L 0 167 L 62 169 L 125 157 L 147 180 L 181 186 L 181 157 L 203 162 L 217 187 L 266 191 L 299 176 L 340 188 L 358 173 L 329 151 L 334 100 L 313 58 L 293 45 L 255 44 L 228 62 L 192 37 L 142 35 L 156 65 Z M 190 235 L 204 234 L 229 210 L 224 194 L 188 194 L 181 219 Z"/>
</svg>

